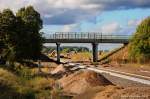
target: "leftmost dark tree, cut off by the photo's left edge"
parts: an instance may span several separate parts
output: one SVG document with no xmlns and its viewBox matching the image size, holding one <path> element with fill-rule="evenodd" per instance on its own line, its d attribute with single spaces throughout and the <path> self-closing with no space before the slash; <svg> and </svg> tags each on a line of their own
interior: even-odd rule
<svg viewBox="0 0 150 99">
<path fill-rule="evenodd" d="M 15 22 L 16 18 L 10 9 L 5 9 L 0 14 L 0 39 L 4 46 L 2 56 L 9 61 L 14 61 L 15 57 Z"/>
</svg>

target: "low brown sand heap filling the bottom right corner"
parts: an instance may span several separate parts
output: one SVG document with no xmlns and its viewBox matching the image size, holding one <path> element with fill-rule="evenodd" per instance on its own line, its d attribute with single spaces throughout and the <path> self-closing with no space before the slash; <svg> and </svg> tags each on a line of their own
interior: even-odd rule
<svg viewBox="0 0 150 99">
<path fill-rule="evenodd" d="M 150 87 L 95 87 L 73 99 L 149 99 Z"/>
</svg>

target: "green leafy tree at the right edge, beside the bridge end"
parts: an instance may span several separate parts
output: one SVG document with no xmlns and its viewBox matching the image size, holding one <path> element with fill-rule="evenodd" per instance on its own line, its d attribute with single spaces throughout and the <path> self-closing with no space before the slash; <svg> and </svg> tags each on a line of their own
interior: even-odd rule
<svg viewBox="0 0 150 99">
<path fill-rule="evenodd" d="M 131 39 L 129 48 L 130 58 L 137 62 L 145 62 L 150 59 L 150 17 L 146 18 L 137 27 L 136 33 Z"/>
</svg>

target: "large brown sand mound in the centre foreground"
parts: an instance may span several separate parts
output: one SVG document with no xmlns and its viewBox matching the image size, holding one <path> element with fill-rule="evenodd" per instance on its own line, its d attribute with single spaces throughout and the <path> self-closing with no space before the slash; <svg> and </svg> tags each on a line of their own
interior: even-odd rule
<svg viewBox="0 0 150 99">
<path fill-rule="evenodd" d="M 59 81 L 65 93 L 80 94 L 86 90 L 96 87 L 111 85 L 112 83 L 103 76 L 92 71 L 77 71 Z"/>
</svg>

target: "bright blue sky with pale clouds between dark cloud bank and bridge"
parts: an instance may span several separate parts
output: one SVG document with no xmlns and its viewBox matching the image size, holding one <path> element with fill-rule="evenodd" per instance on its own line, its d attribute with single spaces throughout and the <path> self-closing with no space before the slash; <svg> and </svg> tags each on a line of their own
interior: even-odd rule
<svg viewBox="0 0 150 99">
<path fill-rule="evenodd" d="M 150 8 L 105 11 L 101 14 L 98 14 L 96 17 L 93 17 L 91 20 L 83 20 L 73 25 L 45 25 L 45 28 L 42 31 L 45 33 L 59 31 L 102 32 L 104 34 L 109 32 L 114 34 L 131 35 L 135 32 L 137 25 L 148 16 L 150 16 Z M 111 25 L 114 27 L 108 27 L 112 28 L 110 31 L 105 30 L 105 26 Z"/>
</svg>

